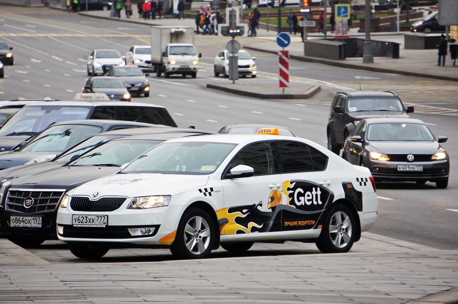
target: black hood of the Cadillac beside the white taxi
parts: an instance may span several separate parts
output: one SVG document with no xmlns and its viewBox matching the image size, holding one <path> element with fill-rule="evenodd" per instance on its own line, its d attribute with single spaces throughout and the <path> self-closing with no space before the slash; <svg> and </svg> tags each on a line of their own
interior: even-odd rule
<svg viewBox="0 0 458 304">
<path fill-rule="evenodd" d="M 64 166 L 16 178 L 12 180 L 11 187 L 70 190 L 87 181 L 114 174 L 119 170 L 119 167 Z"/>
</svg>

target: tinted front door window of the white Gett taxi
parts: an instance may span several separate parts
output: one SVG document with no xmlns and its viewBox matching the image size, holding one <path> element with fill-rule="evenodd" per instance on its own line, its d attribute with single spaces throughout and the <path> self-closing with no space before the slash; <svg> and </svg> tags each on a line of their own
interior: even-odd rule
<svg viewBox="0 0 458 304">
<path fill-rule="evenodd" d="M 270 145 L 267 142 L 246 146 L 232 159 L 227 172 L 238 165 L 253 168 L 253 175 L 273 174 L 273 161 Z"/>
</svg>

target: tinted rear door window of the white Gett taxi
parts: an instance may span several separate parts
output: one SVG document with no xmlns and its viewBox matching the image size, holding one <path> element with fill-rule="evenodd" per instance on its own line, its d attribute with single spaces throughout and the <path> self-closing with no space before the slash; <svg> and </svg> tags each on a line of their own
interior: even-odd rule
<svg viewBox="0 0 458 304">
<path fill-rule="evenodd" d="M 279 173 L 313 171 L 313 162 L 306 144 L 277 141 L 274 149 Z"/>
</svg>

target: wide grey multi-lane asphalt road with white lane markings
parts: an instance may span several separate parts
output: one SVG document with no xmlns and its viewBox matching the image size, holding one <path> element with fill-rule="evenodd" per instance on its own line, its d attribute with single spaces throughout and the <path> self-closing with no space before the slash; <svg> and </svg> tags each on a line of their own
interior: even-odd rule
<svg viewBox="0 0 458 304">
<path fill-rule="evenodd" d="M 71 99 L 87 80 L 86 59 L 93 49 L 115 48 L 124 54 L 132 45 L 149 42 L 147 26 L 49 9 L 4 6 L 2 11 L 0 40 L 14 47 L 15 65 L 5 67 L 0 99 Z M 326 145 L 327 116 L 335 91 L 359 90 L 360 86 L 362 90 L 395 91 L 404 103 L 415 106 L 412 117 L 428 123 L 436 136 L 449 138 L 443 147 L 452 160 L 451 176 L 448 188 L 442 190 L 432 183 L 377 183 L 380 216 L 371 232 L 439 249 L 458 249 L 457 83 L 292 60 L 292 84 L 321 85 L 322 91 L 310 100 L 258 100 L 206 89 L 209 82 L 229 81 L 213 76 L 213 58 L 227 38 L 199 36 L 195 41 L 198 52 L 203 53 L 196 79 L 166 80 L 151 75 L 150 97 L 132 101 L 167 107 L 180 127 L 218 131 L 230 123 L 278 123 L 297 136 Z M 250 53 L 257 57 L 258 77 L 239 81 L 278 85 L 277 56 Z"/>
</svg>

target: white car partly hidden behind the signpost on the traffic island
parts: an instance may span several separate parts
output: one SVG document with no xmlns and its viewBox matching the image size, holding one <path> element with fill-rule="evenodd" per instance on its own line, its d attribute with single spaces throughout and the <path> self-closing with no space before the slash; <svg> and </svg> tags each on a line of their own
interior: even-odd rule
<svg viewBox="0 0 458 304">
<path fill-rule="evenodd" d="M 232 56 L 232 54 L 228 50 L 223 50 L 215 57 L 213 65 L 215 77 L 218 77 L 219 74 L 223 74 L 225 78 L 229 77 L 229 56 Z M 240 50 L 237 56 L 239 57 L 239 75 L 242 77 L 251 75 L 251 78 L 256 78 L 256 57 L 251 57 L 245 50 Z"/>
</svg>

